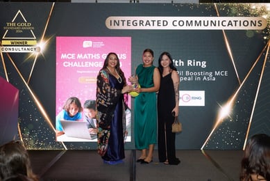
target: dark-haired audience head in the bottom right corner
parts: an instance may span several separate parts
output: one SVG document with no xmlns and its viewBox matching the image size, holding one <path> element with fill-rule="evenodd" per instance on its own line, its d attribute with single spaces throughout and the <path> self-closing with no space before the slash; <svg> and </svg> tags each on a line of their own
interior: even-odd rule
<svg viewBox="0 0 270 181">
<path fill-rule="evenodd" d="M 248 140 L 240 179 L 270 180 L 270 136 L 267 134 L 255 134 Z"/>
</svg>

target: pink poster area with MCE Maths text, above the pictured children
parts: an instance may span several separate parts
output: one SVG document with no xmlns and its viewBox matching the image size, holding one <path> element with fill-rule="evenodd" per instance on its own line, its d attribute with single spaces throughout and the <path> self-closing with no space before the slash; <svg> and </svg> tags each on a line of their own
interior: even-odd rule
<svg viewBox="0 0 270 181">
<path fill-rule="evenodd" d="M 78 97 L 82 106 L 85 100 L 96 100 L 96 76 L 110 52 L 118 55 L 128 78 L 130 37 L 56 37 L 56 114 L 69 97 Z"/>
</svg>

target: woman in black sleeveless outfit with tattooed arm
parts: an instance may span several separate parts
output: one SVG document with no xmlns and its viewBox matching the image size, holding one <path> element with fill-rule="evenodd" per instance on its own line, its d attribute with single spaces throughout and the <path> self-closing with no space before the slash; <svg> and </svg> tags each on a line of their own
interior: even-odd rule
<svg viewBox="0 0 270 181">
<path fill-rule="evenodd" d="M 158 59 L 160 91 L 158 92 L 158 158 L 164 164 L 180 163 L 176 158 L 176 134 L 171 132 L 174 116 L 178 116 L 179 76 L 171 55 L 163 52 Z"/>
</svg>

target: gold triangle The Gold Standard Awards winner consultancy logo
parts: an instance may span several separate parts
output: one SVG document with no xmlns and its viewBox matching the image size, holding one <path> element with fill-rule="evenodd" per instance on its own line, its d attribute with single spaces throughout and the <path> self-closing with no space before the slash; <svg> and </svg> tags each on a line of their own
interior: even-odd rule
<svg viewBox="0 0 270 181">
<path fill-rule="evenodd" d="M 35 38 L 35 29 L 18 10 L 11 22 L 3 26 L 6 30 L 1 40 L 1 52 L 33 53 L 40 52 Z"/>
</svg>

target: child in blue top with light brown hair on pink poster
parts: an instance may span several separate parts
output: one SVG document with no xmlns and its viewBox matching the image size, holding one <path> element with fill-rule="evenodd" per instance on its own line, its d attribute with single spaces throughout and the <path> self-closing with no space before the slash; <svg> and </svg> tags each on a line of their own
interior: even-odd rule
<svg viewBox="0 0 270 181">
<path fill-rule="evenodd" d="M 65 134 L 60 120 L 81 120 L 83 107 L 78 97 L 69 97 L 62 107 L 62 111 L 56 116 L 56 136 Z"/>
</svg>

